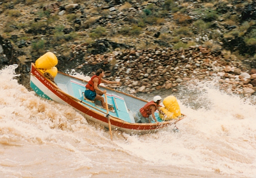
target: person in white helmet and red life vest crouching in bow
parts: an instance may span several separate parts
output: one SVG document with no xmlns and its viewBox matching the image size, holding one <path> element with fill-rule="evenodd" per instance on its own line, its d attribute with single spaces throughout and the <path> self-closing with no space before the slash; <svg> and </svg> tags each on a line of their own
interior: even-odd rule
<svg viewBox="0 0 256 178">
<path fill-rule="evenodd" d="M 159 108 L 161 99 L 160 96 L 155 96 L 153 101 L 149 101 L 145 106 L 139 109 L 139 112 L 137 113 L 137 123 L 151 123 L 150 115 L 155 122 L 158 122 L 155 117 L 155 111 Z"/>
</svg>

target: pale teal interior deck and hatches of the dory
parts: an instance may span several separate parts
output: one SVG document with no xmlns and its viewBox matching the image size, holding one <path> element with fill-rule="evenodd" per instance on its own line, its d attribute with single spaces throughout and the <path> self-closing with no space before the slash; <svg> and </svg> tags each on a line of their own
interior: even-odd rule
<svg viewBox="0 0 256 178">
<path fill-rule="evenodd" d="M 100 101 L 92 101 L 84 97 L 86 81 L 69 77 L 67 75 L 58 73 L 54 78 L 54 82 L 59 89 L 63 90 L 67 94 L 79 99 L 86 107 L 97 110 L 102 113 L 106 113 L 107 110 L 101 106 Z M 106 89 L 106 88 L 104 88 Z M 135 99 L 123 93 L 119 93 L 115 90 L 107 90 L 107 104 L 109 115 L 122 119 L 129 123 L 135 123 L 134 116 L 143 107 L 146 102 L 143 100 Z M 159 118 L 158 112 L 155 113 L 156 119 L 162 121 Z M 152 121 L 153 123 L 154 121 Z"/>
</svg>

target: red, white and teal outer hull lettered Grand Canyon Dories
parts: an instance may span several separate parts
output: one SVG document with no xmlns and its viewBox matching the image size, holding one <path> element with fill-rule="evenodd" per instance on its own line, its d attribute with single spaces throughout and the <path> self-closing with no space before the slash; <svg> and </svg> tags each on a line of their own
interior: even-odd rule
<svg viewBox="0 0 256 178">
<path fill-rule="evenodd" d="M 77 79 L 61 72 L 58 72 L 57 77 L 58 75 L 63 76 L 67 79 L 71 78 L 76 81 L 79 81 L 79 80 L 82 81 L 82 79 Z M 61 86 L 61 83 L 58 85 Z M 104 111 L 104 109 L 97 110 L 97 109 L 91 108 L 88 104 L 86 105 L 85 102 L 82 102 L 80 101 L 80 99 L 73 96 L 72 93 L 68 94 L 67 93 L 68 89 L 64 89 L 64 88 L 60 89 L 60 87 L 58 87 L 50 79 L 45 78 L 43 74 L 38 69 L 35 68 L 35 65 L 33 63 L 31 65 L 30 86 L 40 97 L 45 99 L 52 99 L 61 104 L 68 104 L 71 107 L 73 107 L 75 110 L 80 112 L 87 120 L 99 123 L 104 127 L 108 128 L 108 119 L 107 119 L 108 113 L 106 112 L 106 110 Z M 108 89 L 108 88 L 105 88 L 105 89 Z M 134 107 L 134 104 L 132 103 L 132 101 L 135 103 L 141 103 L 141 104 L 147 102 L 146 100 L 139 99 L 134 96 L 130 96 L 120 91 L 116 91 L 116 90 L 113 91 L 113 89 L 108 89 L 107 92 L 109 93 L 118 92 L 117 95 L 121 95 L 124 98 L 128 98 L 130 100 L 130 102 L 128 102 L 128 105 L 132 105 L 133 107 Z M 128 108 L 130 108 L 130 106 L 128 106 Z M 145 133 L 156 132 L 172 124 L 176 124 L 178 121 L 184 118 L 185 116 L 179 119 L 162 121 L 159 123 L 130 123 L 125 120 L 122 120 L 122 118 L 117 118 L 111 115 L 109 116 L 109 119 L 111 122 L 111 129 L 119 129 L 128 134 L 145 134 Z"/>
</svg>

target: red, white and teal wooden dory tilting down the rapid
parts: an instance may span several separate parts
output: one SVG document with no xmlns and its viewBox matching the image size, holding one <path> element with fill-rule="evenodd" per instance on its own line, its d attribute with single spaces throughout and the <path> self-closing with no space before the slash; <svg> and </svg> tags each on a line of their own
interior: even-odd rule
<svg viewBox="0 0 256 178">
<path fill-rule="evenodd" d="M 54 78 L 55 83 L 44 76 L 40 69 L 36 69 L 35 64 L 32 63 L 30 86 L 39 96 L 68 104 L 79 111 L 85 119 L 100 123 L 106 128 L 109 128 L 108 119 L 110 119 L 110 129 L 119 129 L 128 134 L 145 134 L 176 124 L 186 117 L 182 115 L 179 119 L 164 121 L 156 112 L 155 116 L 160 123 L 154 121 L 152 123 L 135 123 L 135 113 L 148 101 L 101 86 L 107 90 L 108 108 L 113 109 L 109 109 L 107 115 L 106 109 L 98 106 L 96 102 L 84 98 L 83 92 L 87 81 L 62 72 L 57 73 Z"/>
</svg>

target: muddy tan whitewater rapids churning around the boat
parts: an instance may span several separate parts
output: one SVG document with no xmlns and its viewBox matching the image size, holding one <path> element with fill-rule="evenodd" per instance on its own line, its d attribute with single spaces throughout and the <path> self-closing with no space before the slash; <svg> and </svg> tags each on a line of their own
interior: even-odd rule
<svg viewBox="0 0 256 178">
<path fill-rule="evenodd" d="M 15 68 L 0 70 L 1 178 L 256 178 L 255 97 L 197 82 L 175 94 L 187 115 L 179 132 L 114 130 L 111 141 L 73 108 L 18 84 Z"/>
</svg>

